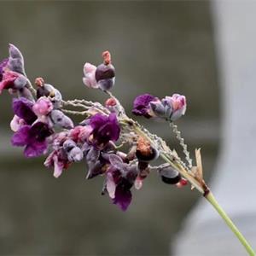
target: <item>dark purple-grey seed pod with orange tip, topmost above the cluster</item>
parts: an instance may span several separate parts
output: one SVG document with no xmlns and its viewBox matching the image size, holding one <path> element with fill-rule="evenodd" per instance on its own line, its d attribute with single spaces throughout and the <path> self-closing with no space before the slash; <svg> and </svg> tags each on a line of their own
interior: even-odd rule
<svg viewBox="0 0 256 256">
<path fill-rule="evenodd" d="M 108 50 L 102 53 L 103 63 L 96 67 L 95 78 L 102 90 L 110 90 L 115 81 L 115 69 L 111 64 L 111 55 Z"/>
</svg>

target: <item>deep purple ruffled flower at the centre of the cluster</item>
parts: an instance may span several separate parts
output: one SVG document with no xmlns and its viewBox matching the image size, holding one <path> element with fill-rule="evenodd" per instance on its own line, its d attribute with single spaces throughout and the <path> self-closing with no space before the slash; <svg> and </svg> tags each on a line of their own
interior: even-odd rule
<svg viewBox="0 0 256 256">
<path fill-rule="evenodd" d="M 96 148 L 104 148 L 109 141 L 117 141 L 119 139 L 120 127 L 115 113 L 109 116 L 96 113 L 90 118 L 90 126 L 92 127 L 92 143 Z"/>
</svg>

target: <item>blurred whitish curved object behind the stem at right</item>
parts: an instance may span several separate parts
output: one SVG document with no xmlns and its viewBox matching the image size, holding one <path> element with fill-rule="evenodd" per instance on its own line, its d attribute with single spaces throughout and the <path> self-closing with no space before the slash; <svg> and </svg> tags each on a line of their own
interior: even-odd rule
<svg viewBox="0 0 256 256">
<path fill-rule="evenodd" d="M 256 1 L 213 1 L 222 93 L 222 144 L 211 189 L 256 248 Z M 173 242 L 173 255 L 247 255 L 201 200 Z"/>
</svg>

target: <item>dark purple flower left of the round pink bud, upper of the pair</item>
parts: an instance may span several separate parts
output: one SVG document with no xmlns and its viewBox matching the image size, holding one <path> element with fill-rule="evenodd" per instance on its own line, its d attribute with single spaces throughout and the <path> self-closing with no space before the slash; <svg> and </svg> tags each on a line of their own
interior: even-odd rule
<svg viewBox="0 0 256 256">
<path fill-rule="evenodd" d="M 30 102 L 23 97 L 13 100 L 13 110 L 15 115 L 17 115 L 20 119 L 25 120 L 26 125 L 32 125 L 32 123 L 38 119 L 32 110 L 33 104 L 33 102 Z"/>
</svg>

